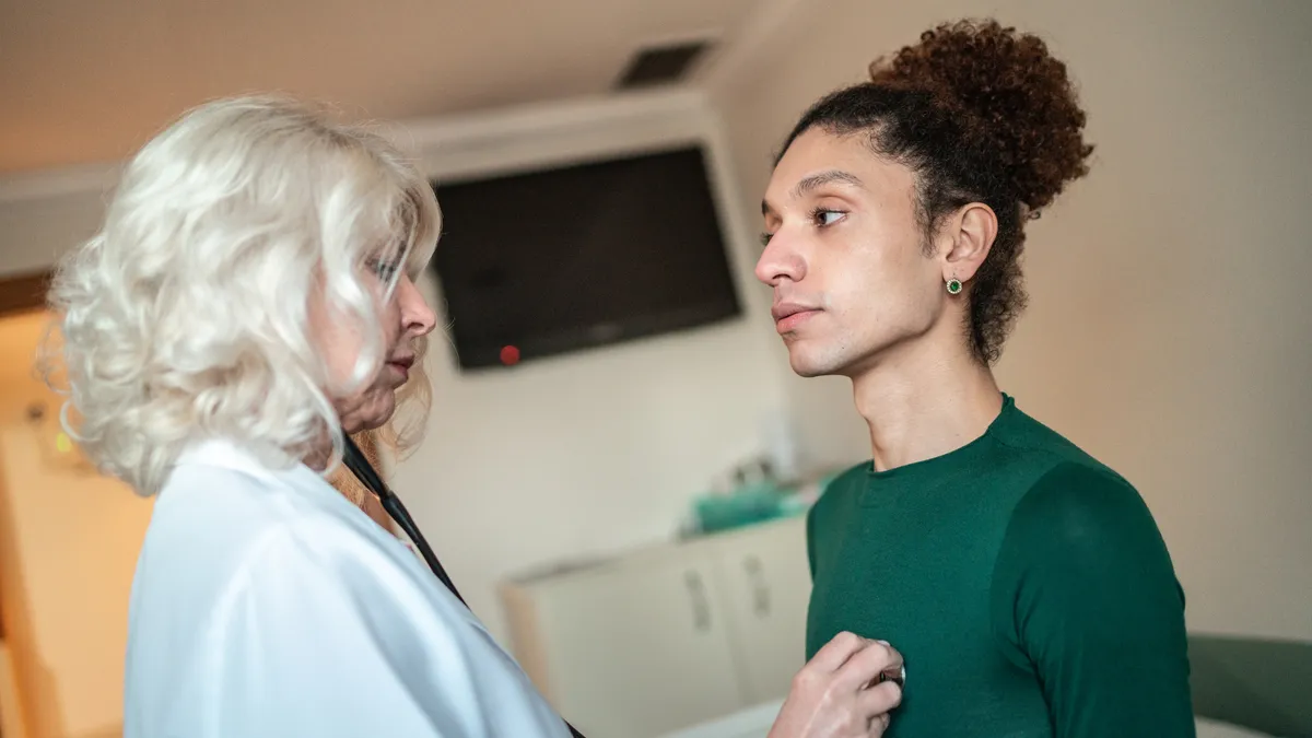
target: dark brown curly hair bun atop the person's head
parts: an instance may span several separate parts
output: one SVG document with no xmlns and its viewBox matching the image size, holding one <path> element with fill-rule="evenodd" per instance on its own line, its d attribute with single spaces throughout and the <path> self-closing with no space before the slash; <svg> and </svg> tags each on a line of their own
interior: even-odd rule
<svg viewBox="0 0 1312 738">
<path fill-rule="evenodd" d="M 1088 173 L 1080 108 L 1063 62 L 1038 37 L 997 21 L 958 21 L 870 66 L 871 81 L 924 89 L 959 116 L 994 181 L 1033 213 Z"/>
</svg>

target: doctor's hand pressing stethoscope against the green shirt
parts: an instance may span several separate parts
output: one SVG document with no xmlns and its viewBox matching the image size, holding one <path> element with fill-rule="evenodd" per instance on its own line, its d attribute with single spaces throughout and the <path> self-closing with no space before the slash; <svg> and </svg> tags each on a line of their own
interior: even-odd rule
<svg viewBox="0 0 1312 738">
<path fill-rule="evenodd" d="M 888 643 L 840 633 L 792 679 L 769 738 L 879 738 L 901 704 L 901 687 L 880 675 L 901 671 Z"/>
</svg>

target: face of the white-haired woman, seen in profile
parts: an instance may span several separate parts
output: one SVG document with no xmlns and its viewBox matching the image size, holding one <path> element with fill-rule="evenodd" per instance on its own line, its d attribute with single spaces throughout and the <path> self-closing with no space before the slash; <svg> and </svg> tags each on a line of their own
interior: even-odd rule
<svg viewBox="0 0 1312 738">
<path fill-rule="evenodd" d="M 395 265 L 375 265 L 370 271 L 370 286 L 383 294 Z M 408 274 L 400 274 L 391 298 L 379 310 L 383 337 L 383 364 L 378 372 L 349 397 L 335 397 L 333 407 L 346 433 L 378 428 L 396 411 L 396 390 L 409 380 L 416 360 L 415 339 L 425 336 L 437 324 L 433 309 L 424 301 L 419 288 Z M 363 336 L 353 327 L 353 320 L 331 315 L 323 305 L 310 310 L 311 330 L 318 339 L 324 362 L 335 385 L 345 383 L 356 368 L 363 348 Z"/>
</svg>

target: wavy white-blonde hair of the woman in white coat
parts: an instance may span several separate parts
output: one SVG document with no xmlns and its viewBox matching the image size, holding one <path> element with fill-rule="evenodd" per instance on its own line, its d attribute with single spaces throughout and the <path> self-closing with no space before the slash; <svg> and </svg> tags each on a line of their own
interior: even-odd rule
<svg viewBox="0 0 1312 738">
<path fill-rule="evenodd" d="M 341 429 L 329 397 L 373 377 L 384 347 L 379 331 L 362 331 L 353 376 L 335 382 L 308 306 L 324 299 L 377 326 L 365 269 L 387 260 L 417 277 L 440 227 L 428 181 L 362 127 L 281 97 L 184 114 L 129 163 L 100 232 L 56 269 L 59 340 L 42 364 L 49 382 L 67 385 L 66 427 L 142 495 L 207 436 L 241 440 L 278 466 L 328 436 L 332 471 Z M 429 387 L 420 376 L 399 394 L 408 411 L 379 437 L 404 450 L 422 432 Z"/>
</svg>

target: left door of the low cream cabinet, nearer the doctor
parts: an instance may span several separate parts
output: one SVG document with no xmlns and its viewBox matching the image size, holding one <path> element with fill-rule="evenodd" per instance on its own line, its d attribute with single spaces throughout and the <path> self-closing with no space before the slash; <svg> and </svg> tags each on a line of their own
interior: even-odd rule
<svg viewBox="0 0 1312 738">
<path fill-rule="evenodd" d="M 666 550 L 534 588 L 548 696 L 589 738 L 648 738 L 743 706 L 705 552 Z"/>
</svg>

